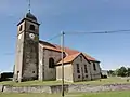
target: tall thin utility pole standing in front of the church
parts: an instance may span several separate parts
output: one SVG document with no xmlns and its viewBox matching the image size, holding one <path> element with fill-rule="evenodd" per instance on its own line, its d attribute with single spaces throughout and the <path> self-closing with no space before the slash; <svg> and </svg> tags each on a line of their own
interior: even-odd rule
<svg viewBox="0 0 130 97">
<path fill-rule="evenodd" d="M 64 31 L 61 32 L 61 48 L 62 48 L 62 97 L 64 97 Z"/>
</svg>

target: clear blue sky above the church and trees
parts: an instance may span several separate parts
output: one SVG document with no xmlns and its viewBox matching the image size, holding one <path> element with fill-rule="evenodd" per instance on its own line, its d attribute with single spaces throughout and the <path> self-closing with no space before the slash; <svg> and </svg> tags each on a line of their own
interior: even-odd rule
<svg viewBox="0 0 130 97">
<path fill-rule="evenodd" d="M 93 32 L 130 29 L 130 0 L 31 0 L 40 39 L 61 31 Z M 17 24 L 28 12 L 28 0 L 0 0 L 0 71 L 12 71 Z M 60 37 L 49 41 L 60 44 Z M 102 69 L 130 67 L 130 33 L 65 34 L 65 46 L 101 61 Z"/>
</svg>

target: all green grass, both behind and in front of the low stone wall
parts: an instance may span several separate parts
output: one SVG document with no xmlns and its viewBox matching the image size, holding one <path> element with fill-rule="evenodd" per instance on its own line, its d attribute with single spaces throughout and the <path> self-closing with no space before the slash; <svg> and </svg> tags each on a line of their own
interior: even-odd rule
<svg viewBox="0 0 130 97">
<path fill-rule="evenodd" d="M 127 79 L 121 78 L 108 78 L 103 79 L 102 81 L 84 81 L 84 82 L 65 82 L 66 84 L 92 84 L 92 85 L 104 85 L 104 84 L 130 84 L 127 82 Z M 27 81 L 22 83 L 15 83 L 12 81 L 0 82 L 0 84 L 4 85 L 13 85 L 13 86 L 30 86 L 30 85 L 58 85 L 62 84 L 61 81 Z M 13 93 L 0 93 L 0 97 L 62 97 L 61 94 L 13 94 Z M 73 93 L 65 94 L 65 97 L 130 97 L 129 91 L 121 92 L 102 92 L 102 93 Z"/>
</svg>

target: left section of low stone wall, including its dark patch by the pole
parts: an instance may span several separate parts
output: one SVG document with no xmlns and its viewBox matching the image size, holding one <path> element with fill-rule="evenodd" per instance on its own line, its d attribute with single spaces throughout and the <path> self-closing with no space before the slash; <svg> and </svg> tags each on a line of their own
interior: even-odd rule
<svg viewBox="0 0 130 97">
<path fill-rule="evenodd" d="M 65 92 L 68 92 L 68 85 L 64 86 Z M 61 85 L 44 85 L 44 86 L 8 86 L 5 85 L 3 88 L 3 93 L 61 93 L 62 86 Z M 2 92 L 2 91 L 1 91 Z"/>
</svg>

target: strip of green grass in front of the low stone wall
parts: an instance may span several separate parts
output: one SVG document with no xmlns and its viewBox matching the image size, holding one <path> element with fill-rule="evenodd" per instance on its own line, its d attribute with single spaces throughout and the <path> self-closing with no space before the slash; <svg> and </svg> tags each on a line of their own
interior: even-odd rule
<svg viewBox="0 0 130 97">
<path fill-rule="evenodd" d="M 0 97 L 62 97 L 61 94 L 0 94 Z M 65 97 L 130 97 L 130 92 L 76 93 L 65 94 Z"/>
</svg>

